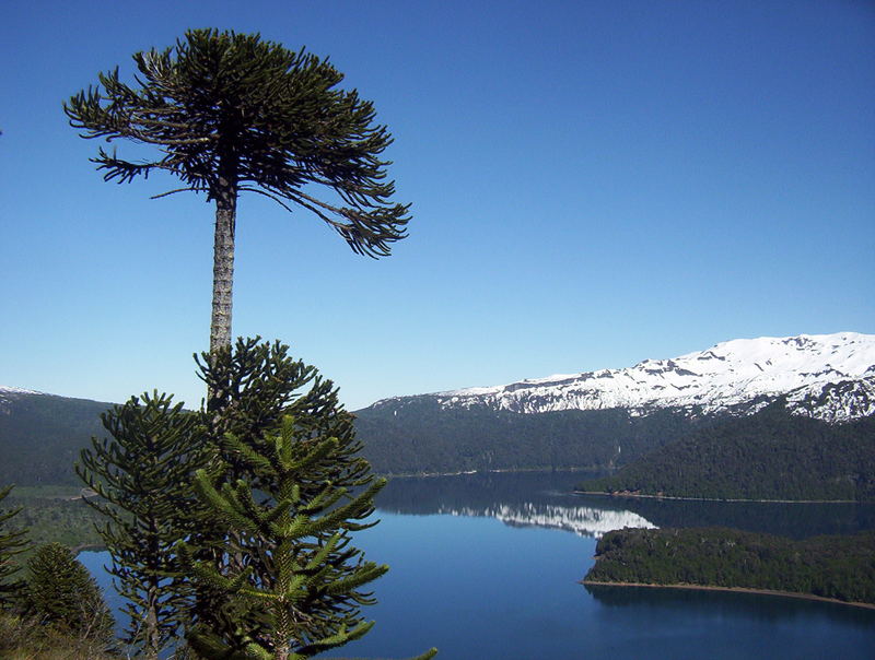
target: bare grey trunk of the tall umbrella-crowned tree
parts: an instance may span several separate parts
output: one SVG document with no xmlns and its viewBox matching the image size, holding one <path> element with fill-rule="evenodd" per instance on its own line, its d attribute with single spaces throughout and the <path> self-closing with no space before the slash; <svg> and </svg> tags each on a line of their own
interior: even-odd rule
<svg viewBox="0 0 875 660">
<path fill-rule="evenodd" d="M 212 267 L 212 319 L 210 353 L 231 347 L 231 303 L 234 284 L 234 224 L 236 186 L 231 181 L 215 199 L 215 237 Z"/>
</svg>

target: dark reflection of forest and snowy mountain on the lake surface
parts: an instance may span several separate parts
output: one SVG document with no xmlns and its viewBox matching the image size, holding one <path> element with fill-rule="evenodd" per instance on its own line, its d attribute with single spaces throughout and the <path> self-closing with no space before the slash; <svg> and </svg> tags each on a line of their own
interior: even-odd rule
<svg viewBox="0 0 875 660">
<path fill-rule="evenodd" d="M 574 495 L 584 472 L 395 478 L 377 508 L 404 515 L 497 518 L 514 527 L 600 538 L 623 527 L 733 527 L 804 539 L 875 529 L 875 504 L 695 502 Z"/>
</svg>

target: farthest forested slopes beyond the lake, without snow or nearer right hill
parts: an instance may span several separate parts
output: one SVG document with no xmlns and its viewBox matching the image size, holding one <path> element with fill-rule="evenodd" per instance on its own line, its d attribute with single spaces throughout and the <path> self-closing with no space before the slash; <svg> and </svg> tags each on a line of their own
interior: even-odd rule
<svg viewBox="0 0 875 660">
<path fill-rule="evenodd" d="M 73 461 L 92 436 L 106 435 L 100 415 L 109 403 L 14 394 L 0 406 L 0 451 L 7 459 L 0 483 L 81 485 Z M 444 410 L 424 397 L 397 410 L 372 406 L 354 414 L 362 453 L 381 474 L 612 469 L 713 423 L 668 410 L 645 417 L 619 409 L 532 415 Z"/>
</svg>

